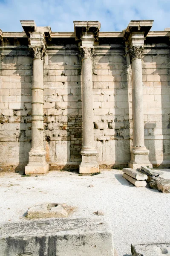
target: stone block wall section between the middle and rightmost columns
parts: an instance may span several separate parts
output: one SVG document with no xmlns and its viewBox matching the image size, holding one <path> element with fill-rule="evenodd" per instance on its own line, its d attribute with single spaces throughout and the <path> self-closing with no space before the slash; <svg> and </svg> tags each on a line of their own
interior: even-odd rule
<svg viewBox="0 0 170 256">
<path fill-rule="evenodd" d="M 120 49 L 121 47 L 121 49 Z M 130 161 L 131 80 L 123 45 L 104 56 L 95 52 L 93 70 L 94 135 L 98 163 L 123 168 Z"/>
</svg>

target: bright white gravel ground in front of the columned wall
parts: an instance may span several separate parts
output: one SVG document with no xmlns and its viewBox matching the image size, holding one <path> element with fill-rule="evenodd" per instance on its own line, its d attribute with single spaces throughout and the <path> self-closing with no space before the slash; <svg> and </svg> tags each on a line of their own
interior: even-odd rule
<svg viewBox="0 0 170 256">
<path fill-rule="evenodd" d="M 170 170 L 164 169 L 164 174 L 170 177 Z M 29 207 L 46 201 L 76 207 L 69 218 L 108 221 L 119 256 L 131 255 L 131 243 L 170 242 L 170 194 L 137 188 L 121 171 L 101 170 L 95 176 L 57 171 L 38 177 L 0 174 L 1 223 L 23 220 Z M 104 216 L 93 214 L 98 209 Z"/>
</svg>

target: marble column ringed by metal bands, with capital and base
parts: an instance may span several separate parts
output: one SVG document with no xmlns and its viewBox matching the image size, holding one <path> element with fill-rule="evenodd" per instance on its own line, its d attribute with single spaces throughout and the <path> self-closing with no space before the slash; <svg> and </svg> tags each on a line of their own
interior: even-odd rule
<svg viewBox="0 0 170 256">
<path fill-rule="evenodd" d="M 26 174 L 45 174 L 49 170 L 46 151 L 43 147 L 43 52 L 44 48 L 32 47 L 32 148 Z"/>
</svg>

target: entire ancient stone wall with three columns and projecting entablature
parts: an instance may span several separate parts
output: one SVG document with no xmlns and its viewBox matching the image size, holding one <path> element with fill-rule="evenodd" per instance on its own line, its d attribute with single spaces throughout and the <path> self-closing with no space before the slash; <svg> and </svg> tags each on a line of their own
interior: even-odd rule
<svg viewBox="0 0 170 256">
<path fill-rule="evenodd" d="M 170 29 L 152 24 L 0 30 L 0 171 L 169 167 Z"/>
</svg>

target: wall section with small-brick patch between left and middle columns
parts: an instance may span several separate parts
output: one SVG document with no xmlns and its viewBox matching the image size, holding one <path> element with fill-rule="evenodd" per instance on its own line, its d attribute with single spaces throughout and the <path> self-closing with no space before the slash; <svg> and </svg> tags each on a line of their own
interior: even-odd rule
<svg viewBox="0 0 170 256">
<path fill-rule="evenodd" d="M 75 42 L 60 44 L 63 48 L 60 45 L 55 54 L 49 51 L 44 65 L 47 161 L 51 170 L 78 170 L 82 145 L 81 63 Z"/>
</svg>

